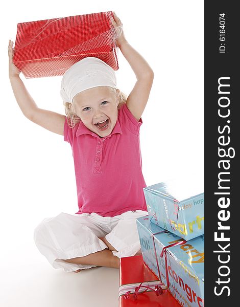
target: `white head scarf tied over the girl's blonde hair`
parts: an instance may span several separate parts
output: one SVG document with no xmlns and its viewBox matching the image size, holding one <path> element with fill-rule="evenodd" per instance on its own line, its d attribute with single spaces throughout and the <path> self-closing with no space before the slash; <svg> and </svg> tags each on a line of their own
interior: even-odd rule
<svg viewBox="0 0 240 307">
<path fill-rule="evenodd" d="M 75 95 L 96 86 L 111 86 L 116 89 L 115 72 L 104 61 L 86 57 L 65 72 L 60 95 L 63 101 L 72 103 Z"/>
</svg>

